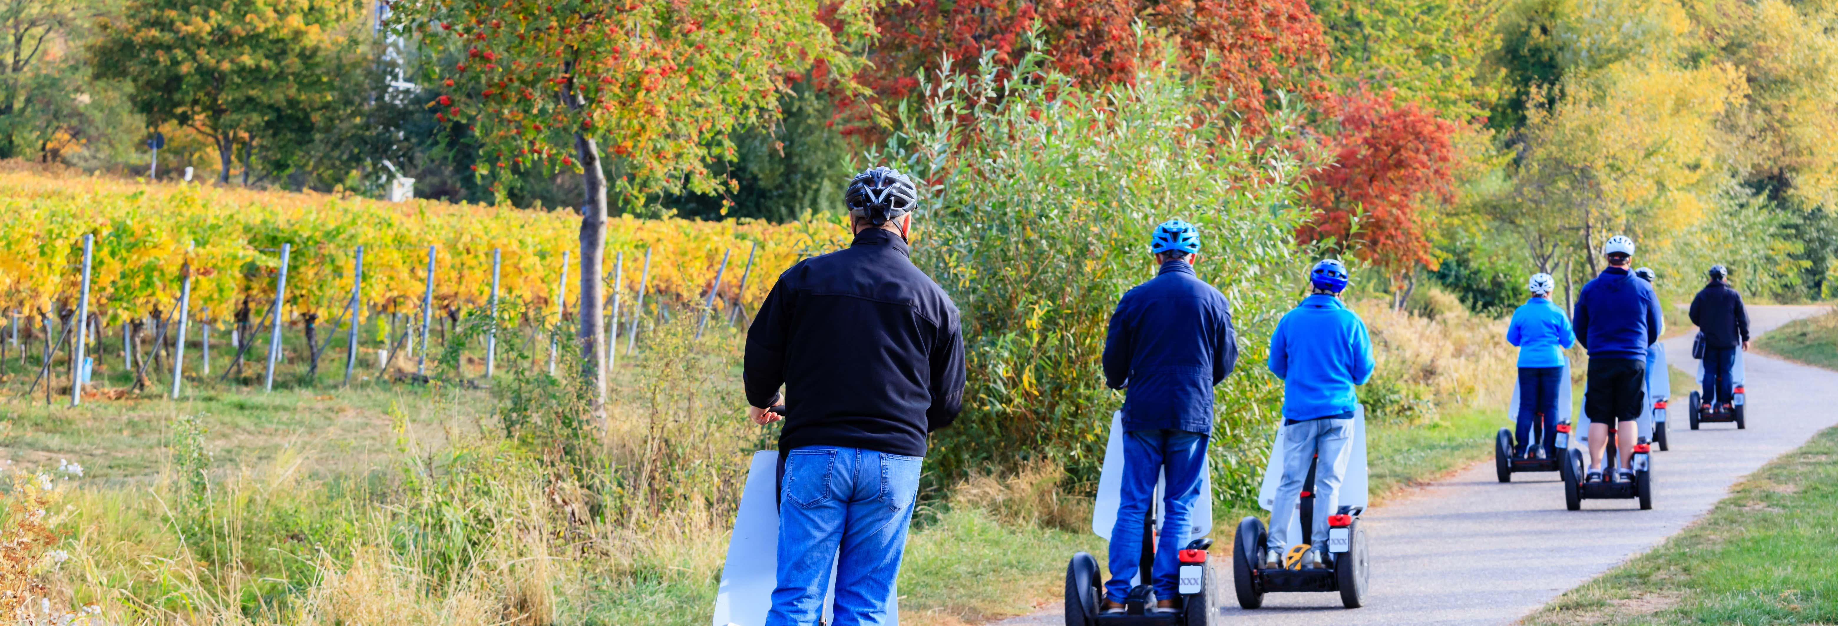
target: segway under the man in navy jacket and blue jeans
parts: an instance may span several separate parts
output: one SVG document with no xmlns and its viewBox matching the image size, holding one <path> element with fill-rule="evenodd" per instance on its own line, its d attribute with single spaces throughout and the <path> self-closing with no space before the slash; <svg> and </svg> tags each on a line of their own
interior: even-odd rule
<svg viewBox="0 0 1838 626">
<path fill-rule="evenodd" d="M 1123 501 L 1123 413 L 1110 417 L 1110 441 L 1105 446 L 1105 463 L 1097 475 L 1097 503 L 1092 509 L 1092 532 L 1110 538 L 1116 527 L 1118 507 Z M 1165 472 L 1165 470 L 1163 470 Z M 1123 613 L 1103 613 L 1105 576 L 1097 567 L 1097 558 L 1090 553 L 1072 554 L 1066 564 L 1066 626 L 1211 626 L 1219 622 L 1219 575 L 1208 549 L 1213 540 L 1206 538 L 1213 531 L 1213 479 L 1211 466 L 1200 464 L 1200 501 L 1189 514 L 1187 547 L 1180 551 L 1180 584 L 1176 587 L 1174 609 L 1158 611 L 1154 580 L 1145 573 L 1154 571 L 1156 531 L 1162 520 L 1162 492 L 1167 485 L 1154 488 L 1154 503 L 1143 514 L 1141 560 L 1136 567 L 1134 586 L 1123 600 Z"/>
</svg>

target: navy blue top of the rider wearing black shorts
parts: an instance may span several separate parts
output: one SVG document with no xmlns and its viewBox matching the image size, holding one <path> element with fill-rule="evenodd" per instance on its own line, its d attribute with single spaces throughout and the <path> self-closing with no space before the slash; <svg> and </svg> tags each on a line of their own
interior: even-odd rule
<svg viewBox="0 0 1838 626">
<path fill-rule="evenodd" d="M 1577 341 L 1590 349 L 1590 358 L 1645 362 L 1647 347 L 1665 332 L 1660 296 L 1652 294 L 1652 285 L 1625 268 L 1606 268 L 1583 285 L 1571 323 L 1577 327 Z"/>
</svg>

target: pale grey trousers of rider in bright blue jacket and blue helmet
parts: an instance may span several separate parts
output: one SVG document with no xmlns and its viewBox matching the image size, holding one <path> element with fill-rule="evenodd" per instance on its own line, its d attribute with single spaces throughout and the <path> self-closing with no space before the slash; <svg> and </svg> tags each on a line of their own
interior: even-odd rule
<svg viewBox="0 0 1838 626">
<path fill-rule="evenodd" d="M 1347 417 L 1353 417 L 1351 413 Z M 1347 444 L 1353 442 L 1351 419 L 1312 419 L 1283 426 L 1283 481 L 1276 485 L 1276 507 L 1270 510 L 1270 540 L 1266 547 L 1287 553 L 1288 520 L 1301 501 L 1301 483 L 1309 479 L 1309 464 L 1320 455 L 1314 466 L 1314 523 L 1303 529 L 1309 545 L 1327 545 L 1327 516 L 1340 509 L 1340 477 L 1347 474 Z"/>
</svg>

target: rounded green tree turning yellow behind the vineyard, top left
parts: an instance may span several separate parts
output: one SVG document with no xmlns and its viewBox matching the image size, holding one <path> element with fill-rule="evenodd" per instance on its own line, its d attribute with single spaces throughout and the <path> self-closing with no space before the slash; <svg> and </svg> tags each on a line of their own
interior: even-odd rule
<svg viewBox="0 0 1838 626">
<path fill-rule="evenodd" d="M 206 136 L 222 184 L 241 145 L 246 182 L 259 140 L 296 140 L 311 132 L 301 117 L 335 103 L 346 29 L 362 15 L 362 4 L 336 0 L 130 0 L 97 24 L 92 72 L 132 84 L 151 127 Z"/>
</svg>

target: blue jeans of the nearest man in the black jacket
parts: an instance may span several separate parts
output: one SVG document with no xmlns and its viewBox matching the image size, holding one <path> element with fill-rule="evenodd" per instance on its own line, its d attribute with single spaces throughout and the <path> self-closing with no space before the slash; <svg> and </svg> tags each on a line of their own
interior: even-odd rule
<svg viewBox="0 0 1838 626">
<path fill-rule="evenodd" d="M 886 622 L 923 461 L 838 446 L 805 446 L 785 455 L 779 584 L 772 589 L 766 626 L 818 622 L 831 560 L 836 562 L 831 626 Z"/>
</svg>

